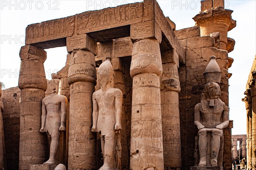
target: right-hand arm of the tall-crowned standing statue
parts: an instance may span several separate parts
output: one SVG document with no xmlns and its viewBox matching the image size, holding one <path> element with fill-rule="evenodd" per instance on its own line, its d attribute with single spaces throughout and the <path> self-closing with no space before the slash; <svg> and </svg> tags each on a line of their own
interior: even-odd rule
<svg viewBox="0 0 256 170">
<path fill-rule="evenodd" d="M 122 122 L 122 91 L 119 89 L 115 90 L 115 116 L 116 116 L 116 124 L 115 130 L 122 130 L 121 122 Z"/>
</svg>

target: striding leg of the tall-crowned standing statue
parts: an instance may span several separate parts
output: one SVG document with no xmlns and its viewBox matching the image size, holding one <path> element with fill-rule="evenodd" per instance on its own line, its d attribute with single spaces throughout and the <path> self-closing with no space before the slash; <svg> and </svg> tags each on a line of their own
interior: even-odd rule
<svg viewBox="0 0 256 170">
<path fill-rule="evenodd" d="M 114 162 L 114 151 L 115 151 L 115 132 L 113 134 L 105 135 L 104 145 L 104 164 L 99 170 L 113 170 L 116 165 Z"/>
</svg>

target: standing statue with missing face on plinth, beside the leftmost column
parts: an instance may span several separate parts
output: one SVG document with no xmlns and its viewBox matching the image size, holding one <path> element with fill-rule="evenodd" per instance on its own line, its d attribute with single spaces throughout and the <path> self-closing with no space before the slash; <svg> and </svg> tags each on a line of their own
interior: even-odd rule
<svg viewBox="0 0 256 170">
<path fill-rule="evenodd" d="M 66 130 L 67 97 L 58 95 L 56 83 L 48 84 L 47 92 L 50 93 L 42 101 L 42 124 L 40 132 L 46 132 L 50 141 L 49 160 L 44 164 L 55 164 L 58 149 L 58 140 L 61 131 Z"/>
</svg>

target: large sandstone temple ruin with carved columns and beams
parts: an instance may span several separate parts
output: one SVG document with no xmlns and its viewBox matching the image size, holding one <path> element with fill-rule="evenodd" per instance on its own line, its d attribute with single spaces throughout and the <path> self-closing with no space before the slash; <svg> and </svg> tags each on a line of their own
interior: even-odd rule
<svg viewBox="0 0 256 170">
<path fill-rule="evenodd" d="M 109 161 L 122 170 L 231 170 L 233 123 L 227 106 L 233 59 L 228 53 L 235 41 L 227 32 L 236 26 L 232 12 L 224 9 L 224 0 L 203 0 L 195 26 L 175 30 L 156 0 L 144 0 L 27 26 L 19 88 L 2 94 L 0 154 L 6 165 L 0 160 L 0 167 L 109 170 Z M 67 46 L 66 65 L 47 82 L 44 49 L 60 46 Z M 210 58 L 218 74 L 204 77 L 212 72 L 206 69 Z M 202 97 L 205 89 L 209 98 Z M 61 99 L 53 99 L 57 96 Z M 209 161 L 198 167 L 203 144 L 198 130 L 204 127 L 194 123 L 200 102 L 223 115 L 215 127 L 202 123 Z M 45 113 L 47 129 L 41 126 Z M 50 117 L 56 121 L 49 123 Z M 221 150 L 212 160 L 211 140 Z"/>
</svg>

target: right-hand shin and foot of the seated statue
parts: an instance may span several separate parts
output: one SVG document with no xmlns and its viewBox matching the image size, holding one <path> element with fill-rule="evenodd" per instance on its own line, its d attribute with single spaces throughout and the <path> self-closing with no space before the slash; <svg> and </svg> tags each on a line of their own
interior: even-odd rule
<svg viewBox="0 0 256 170">
<path fill-rule="evenodd" d="M 216 167 L 218 152 L 221 145 L 221 136 L 223 135 L 223 130 L 213 129 L 212 130 L 212 141 L 211 141 L 211 165 Z"/>
</svg>

